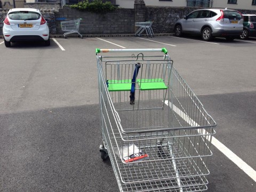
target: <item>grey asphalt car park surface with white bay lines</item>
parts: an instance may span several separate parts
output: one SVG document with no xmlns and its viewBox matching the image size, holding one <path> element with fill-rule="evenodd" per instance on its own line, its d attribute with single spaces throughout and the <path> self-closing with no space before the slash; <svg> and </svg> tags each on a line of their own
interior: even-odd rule
<svg viewBox="0 0 256 192">
<path fill-rule="evenodd" d="M 95 48 L 166 47 L 218 126 L 208 190 L 256 191 L 256 39 L 0 39 L 0 191 L 118 191 L 102 162 Z"/>
</svg>

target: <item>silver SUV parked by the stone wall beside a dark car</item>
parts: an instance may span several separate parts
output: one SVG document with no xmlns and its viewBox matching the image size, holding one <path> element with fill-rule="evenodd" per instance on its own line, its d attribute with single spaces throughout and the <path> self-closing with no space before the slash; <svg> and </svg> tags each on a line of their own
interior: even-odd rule
<svg viewBox="0 0 256 192">
<path fill-rule="evenodd" d="M 174 23 L 175 35 L 201 35 L 204 41 L 225 37 L 228 41 L 239 38 L 243 31 L 243 15 L 228 9 L 195 10 Z"/>
</svg>

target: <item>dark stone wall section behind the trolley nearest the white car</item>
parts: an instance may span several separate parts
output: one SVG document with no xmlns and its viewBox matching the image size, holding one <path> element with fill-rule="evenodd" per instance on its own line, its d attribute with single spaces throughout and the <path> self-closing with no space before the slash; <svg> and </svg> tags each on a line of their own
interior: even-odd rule
<svg viewBox="0 0 256 192">
<path fill-rule="evenodd" d="M 63 7 L 55 12 L 57 34 L 63 34 L 61 21 L 81 18 L 81 34 L 131 34 L 134 32 L 134 10 L 117 9 L 106 14 L 79 11 Z"/>
</svg>

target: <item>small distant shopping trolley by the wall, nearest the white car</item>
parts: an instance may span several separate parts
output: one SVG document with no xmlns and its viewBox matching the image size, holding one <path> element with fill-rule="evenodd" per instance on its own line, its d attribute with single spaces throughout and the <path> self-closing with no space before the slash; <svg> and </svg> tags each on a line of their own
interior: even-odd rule
<svg viewBox="0 0 256 192">
<path fill-rule="evenodd" d="M 66 33 L 64 33 L 64 37 L 67 38 L 68 34 L 72 34 L 72 33 L 77 33 L 81 38 L 83 38 L 83 35 L 81 35 L 78 31 L 79 31 L 79 25 L 80 25 L 80 21 L 82 19 L 75 19 L 75 20 L 69 20 L 69 21 L 61 21 L 60 25 L 61 25 L 61 30 L 63 31 L 68 31 Z"/>
</svg>

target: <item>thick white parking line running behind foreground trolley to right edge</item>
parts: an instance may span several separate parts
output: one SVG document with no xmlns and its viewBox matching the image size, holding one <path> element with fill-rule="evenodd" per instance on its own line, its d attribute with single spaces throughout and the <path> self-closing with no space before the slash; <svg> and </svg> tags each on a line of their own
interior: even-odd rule
<svg viewBox="0 0 256 192">
<path fill-rule="evenodd" d="M 172 105 L 171 102 L 168 103 L 166 100 L 164 102 L 166 105 Z M 178 107 L 172 105 L 172 109 L 175 113 L 177 113 L 182 119 L 184 119 L 190 126 L 199 126 L 193 119 L 191 119 L 187 114 L 183 113 Z M 204 130 L 204 134 L 207 132 Z M 206 137 L 208 140 L 210 138 Z M 209 140 L 210 141 L 210 140 Z M 223 145 L 219 140 L 212 137 L 212 145 L 214 145 L 217 149 L 219 149 L 224 155 L 226 155 L 233 163 L 235 163 L 241 170 L 243 170 L 250 178 L 252 178 L 256 182 L 256 171 L 252 169 L 247 163 L 245 163 L 241 158 L 239 158 L 236 154 L 234 154 L 230 149 L 228 149 L 225 145 Z"/>
</svg>

